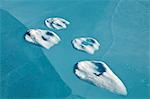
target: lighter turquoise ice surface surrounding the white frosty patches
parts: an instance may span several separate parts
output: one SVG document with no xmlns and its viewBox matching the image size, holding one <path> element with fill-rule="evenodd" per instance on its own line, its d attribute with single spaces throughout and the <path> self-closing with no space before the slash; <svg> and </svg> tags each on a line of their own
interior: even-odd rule
<svg viewBox="0 0 150 99">
<path fill-rule="evenodd" d="M 54 31 L 62 38 L 59 46 L 42 51 L 61 79 L 71 88 L 72 94 L 87 99 L 148 99 L 148 3 L 148 0 L 14 0 L 2 2 L 1 8 L 7 10 L 27 28 L 48 29 L 44 20 L 49 17 L 62 17 L 70 22 L 67 29 Z M 19 36 L 19 33 L 16 36 Z M 92 56 L 74 50 L 70 42 L 79 36 L 96 38 L 101 42 L 101 50 Z M 29 44 L 24 43 L 24 46 Z M 32 55 L 26 56 L 34 59 Z M 21 57 L 23 56 L 18 58 Z M 87 59 L 107 62 L 126 85 L 128 95 L 118 96 L 78 79 L 72 72 L 73 66 L 77 61 Z M 7 68 L 14 67 L 11 65 Z M 32 74 L 30 75 L 32 77 Z M 22 82 L 26 81 L 23 79 Z M 35 84 L 39 85 L 40 82 Z M 28 90 L 19 94 L 26 92 Z"/>
</svg>

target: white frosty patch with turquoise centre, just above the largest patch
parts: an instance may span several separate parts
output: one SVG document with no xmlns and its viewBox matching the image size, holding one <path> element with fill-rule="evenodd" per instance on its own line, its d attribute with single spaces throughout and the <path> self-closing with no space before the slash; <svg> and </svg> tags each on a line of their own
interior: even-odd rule
<svg viewBox="0 0 150 99">
<path fill-rule="evenodd" d="M 76 38 L 72 41 L 72 45 L 74 48 L 85 51 L 89 54 L 94 54 L 94 52 L 100 47 L 99 42 L 96 39 L 90 37 Z"/>
</svg>

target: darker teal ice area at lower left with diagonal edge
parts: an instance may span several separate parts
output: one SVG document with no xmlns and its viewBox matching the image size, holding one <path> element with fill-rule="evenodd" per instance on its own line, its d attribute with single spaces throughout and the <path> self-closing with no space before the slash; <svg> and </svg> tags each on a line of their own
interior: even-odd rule
<svg viewBox="0 0 150 99">
<path fill-rule="evenodd" d="M 23 35 L 27 28 L 8 12 L 1 13 L 1 99 L 65 98 L 71 89 L 37 46 Z"/>
</svg>

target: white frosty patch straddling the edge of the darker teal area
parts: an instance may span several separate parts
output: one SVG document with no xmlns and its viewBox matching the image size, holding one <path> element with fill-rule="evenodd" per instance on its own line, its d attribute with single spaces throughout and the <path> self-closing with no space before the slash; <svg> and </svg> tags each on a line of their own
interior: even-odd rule
<svg viewBox="0 0 150 99">
<path fill-rule="evenodd" d="M 46 49 L 58 44 L 59 36 L 49 30 L 29 29 L 25 34 L 25 40 L 43 46 Z"/>
</svg>

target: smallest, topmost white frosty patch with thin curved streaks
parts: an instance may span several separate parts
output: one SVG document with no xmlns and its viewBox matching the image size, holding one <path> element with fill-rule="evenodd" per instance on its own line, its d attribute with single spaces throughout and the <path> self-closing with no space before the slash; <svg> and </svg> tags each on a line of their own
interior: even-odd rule
<svg viewBox="0 0 150 99">
<path fill-rule="evenodd" d="M 45 20 L 45 24 L 48 28 L 60 30 L 67 28 L 70 23 L 63 18 L 48 18 Z"/>
</svg>

